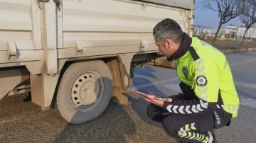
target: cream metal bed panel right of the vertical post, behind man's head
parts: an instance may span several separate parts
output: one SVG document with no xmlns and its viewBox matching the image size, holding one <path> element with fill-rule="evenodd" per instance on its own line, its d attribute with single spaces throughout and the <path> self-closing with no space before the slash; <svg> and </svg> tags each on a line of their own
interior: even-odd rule
<svg viewBox="0 0 256 143">
<path fill-rule="evenodd" d="M 82 48 L 94 53 L 93 55 L 96 51 L 99 55 L 110 54 L 110 52 L 113 54 L 141 52 L 138 46 L 136 49 L 131 48 L 130 51 L 124 48 L 126 45 L 140 44 L 132 40 L 144 40 L 147 45 L 144 51 L 158 50 L 152 31 L 154 25 L 164 18 L 173 18 L 184 31 L 187 31 L 186 11 L 168 6 L 156 6 L 156 4 L 143 6 L 142 2 L 128 0 L 64 1 L 63 48 L 74 48 L 75 41 L 79 41 L 82 43 Z M 112 40 L 111 43 L 110 40 Z M 125 40 L 127 42 L 120 42 Z M 99 41 L 101 41 L 100 45 Z M 107 49 L 107 46 L 119 47 Z"/>
</svg>

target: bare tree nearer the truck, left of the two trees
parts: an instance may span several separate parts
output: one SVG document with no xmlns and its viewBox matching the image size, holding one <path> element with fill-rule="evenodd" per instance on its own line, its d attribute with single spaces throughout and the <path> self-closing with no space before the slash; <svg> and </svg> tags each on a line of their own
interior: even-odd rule
<svg viewBox="0 0 256 143">
<path fill-rule="evenodd" d="M 202 0 L 201 6 L 204 9 L 211 9 L 213 11 L 218 12 L 218 17 L 220 18 L 218 30 L 215 33 L 215 37 L 213 39 L 213 45 L 218 36 L 218 32 L 221 26 L 233 18 L 240 16 L 242 11 L 244 10 L 244 6 L 242 1 L 245 0 Z"/>
</svg>

